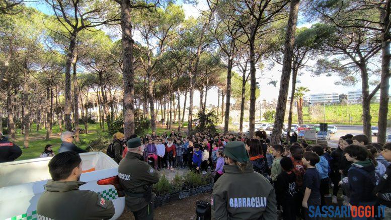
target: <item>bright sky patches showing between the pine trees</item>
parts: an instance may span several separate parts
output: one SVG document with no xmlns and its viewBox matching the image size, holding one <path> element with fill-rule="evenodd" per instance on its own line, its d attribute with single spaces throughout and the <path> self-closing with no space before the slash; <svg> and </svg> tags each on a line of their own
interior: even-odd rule
<svg viewBox="0 0 391 220">
<path fill-rule="evenodd" d="M 182 5 L 183 10 L 185 11 L 186 18 L 189 18 L 191 16 L 197 18 L 200 16 L 201 11 L 208 9 L 208 6 L 206 5 L 205 0 L 199 0 L 198 4 L 195 6 L 192 4 L 183 4 L 182 1 L 177 2 L 177 4 Z M 45 4 L 39 4 L 37 2 L 28 2 L 27 5 L 30 7 L 36 8 L 45 14 L 53 14 L 51 12 L 51 9 Z M 297 28 L 300 28 L 300 27 L 308 27 L 309 28 L 310 26 L 311 26 L 311 23 L 307 23 L 307 22 L 303 21 L 303 19 L 300 19 L 300 16 L 299 16 Z M 119 28 L 118 28 L 118 33 L 116 33 L 116 34 L 113 34 L 112 29 L 109 30 L 109 29 L 103 28 L 102 30 L 105 31 L 110 36 L 119 39 L 119 36 L 120 36 L 119 35 L 119 31 L 120 31 Z M 137 33 L 135 33 L 134 39 L 135 39 L 135 41 L 140 41 L 140 37 L 137 36 Z M 315 64 L 315 62 L 313 59 L 311 59 L 307 63 L 307 65 L 314 65 L 314 64 Z M 277 85 L 273 86 L 273 85 L 268 85 L 268 82 L 269 82 L 268 79 L 258 79 L 257 82 L 260 84 L 261 94 L 260 94 L 260 97 L 257 99 L 257 102 L 261 101 L 261 100 L 266 100 L 266 101 L 270 102 L 274 99 L 278 99 L 278 93 L 279 93 L 279 87 L 280 87 L 279 81 L 281 78 L 281 69 L 282 69 L 282 66 L 277 63 L 275 63 L 275 65 L 272 69 L 267 70 L 267 71 L 261 72 L 261 70 L 257 69 L 257 72 L 256 72 L 257 78 L 271 78 L 273 80 L 278 81 Z M 233 68 L 233 70 L 236 70 L 237 72 L 239 72 L 238 69 L 236 69 L 236 68 Z M 317 76 L 317 77 L 314 77 L 314 76 L 311 76 L 311 73 L 306 71 L 305 69 L 302 69 L 300 71 L 300 73 L 301 73 L 301 75 L 297 76 L 297 81 L 299 83 L 296 84 L 296 88 L 299 86 L 307 87 L 309 89 L 309 92 L 307 93 L 307 95 L 315 94 L 315 93 L 328 93 L 328 92 L 336 92 L 338 94 L 342 94 L 342 93 L 347 94 L 349 91 L 361 90 L 361 82 L 358 82 L 357 85 L 350 86 L 350 87 L 338 86 L 338 85 L 335 85 L 335 83 L 339 81 L 338 76 L 331 76 L 331 77 Z M 370 80 L 379 80 L 379 79 L 377 77 L 371 77 Z M 374 86 L 371 86 L 370 90 L 373 89 L 373 87 Z M 210 104 L 217 105 L 217 97 L 218 96 L 217 96 L 217 89 L 216 88 L 209 90 L 206 105 L 207 106 L 209 106 Z M 288 97 L 290 97 L 290 88 L 289 88 Z M 189 100 L 189 98 L 187 100 Z M 181 96 L 181 103 L 183 103 L 183 102 L 184 102 L 184 96 Z M 231 103 L 234 103 L 233 99 L 231 99 Z M 193 104 L 195 106 L 199 105 L 199 92 L 198 91 L 196 91 L 194 94 L 194 103 Z"/>
</svg>

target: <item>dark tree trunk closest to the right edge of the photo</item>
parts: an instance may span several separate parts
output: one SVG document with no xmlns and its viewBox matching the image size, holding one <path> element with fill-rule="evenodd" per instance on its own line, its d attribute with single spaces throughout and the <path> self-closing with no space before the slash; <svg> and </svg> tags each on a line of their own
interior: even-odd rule
<svg viewBox="0 0 391 220">
<path fill-rule="evenodd" d="M 390 24 L 390 0 L 386 1 L 386 7 L 381 11 L 381 21 L 382 28 L 385 30 L 382 33 L 381 39 L 381 80 L 380 80 L 380 103 L 379 103 L 379 117 L 378 117 L 378 133 L 377 133 L 377 142 L 385 143 L 386 133 L 387 133 L 387 115 L 388 115 L 388 91 L 389 91 L 389 61 L 391 58 L 389 52 L 389 40 L 391 35 L 389 34 L 389 25 Z M 389 118 L 388 118 L 389 120 Z"/>
</svg>

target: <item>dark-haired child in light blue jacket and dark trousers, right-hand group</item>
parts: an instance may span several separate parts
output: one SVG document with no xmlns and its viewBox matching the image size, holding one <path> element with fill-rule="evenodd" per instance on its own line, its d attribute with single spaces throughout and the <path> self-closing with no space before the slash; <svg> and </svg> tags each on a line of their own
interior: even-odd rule
<svg viewBox="0 0 391 220">
<path fill-rule="evenodd" d="M 321 192 L 321 205 L 325 205 L 325 195 L 329 194 L 329 162 L 324 156 L 323 147 L 320 145 L 315 145 L 312 148 L 312 152 L 316 153 L 319 156 L 319 163 L 315 165 L 315 168 L 318 170 L 321 177 L 321 186 L 319 188 Z"/>
</svg>

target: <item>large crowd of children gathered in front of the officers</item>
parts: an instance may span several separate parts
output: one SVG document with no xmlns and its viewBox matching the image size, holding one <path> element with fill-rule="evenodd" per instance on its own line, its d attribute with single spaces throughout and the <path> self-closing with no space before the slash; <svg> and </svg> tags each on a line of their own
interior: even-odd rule
<svg viewBox="0 0 391 220">
<path fill-rule="evenodd" d="M 362 134 L 342 136 L 338 148 L 330 149 L 327 144 L 311 145 L 304 140 L 272 145 L 266 133 L 258 131 L 254 138 L 207 132 L 187 137 L 174 131 L 169 136 L 153 133 L 144 137 L 144 159 L 153 161 L 157 170 L 187 167 L 202 174 L 213 172 L 217 181 L 224 175 L 224 146 L 233 140 L 245 143 L 254 171 L 275 187 L 283 219 L 317 219 L 309 216 L 308 207 L 326 205 L 327 197 L 337 204 L 341 188 L 344 205 L 381 204 L 389 211 L 391 143 L 369 143 Z"/>
</svg>

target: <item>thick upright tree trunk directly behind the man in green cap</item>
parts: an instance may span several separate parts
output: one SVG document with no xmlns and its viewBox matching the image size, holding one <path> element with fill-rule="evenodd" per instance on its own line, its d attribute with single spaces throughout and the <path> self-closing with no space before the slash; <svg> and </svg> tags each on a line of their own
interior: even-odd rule
<svg viewBox="0 0 391 220">
<path fill-rule="evenodd" d="M 127 0 L 121 1 L 122 60 L 123 60 L 123 117 L 125 138 L 134 134 L 134 77 L 133 77 L 133 39 L 132 6 Z"/>
</svg>

